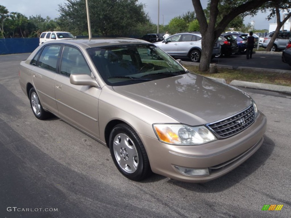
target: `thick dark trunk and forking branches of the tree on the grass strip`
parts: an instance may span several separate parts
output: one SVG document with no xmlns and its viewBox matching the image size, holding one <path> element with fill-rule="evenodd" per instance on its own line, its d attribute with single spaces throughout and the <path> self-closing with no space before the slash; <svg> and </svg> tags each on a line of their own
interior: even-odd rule
<svg viewBox="0 0 291 218">
<path fill-rule="evenodd" d="M 207 71 L 209 69 L 214 43 L 228 24 L 238 15 L 259 8 L 268 1 L 269 0 L 211 0 L 209 21 L 207 22 L 200 0 L 192 0 L 202 35 L 203 50 L 200 59 L 200 71 Z M 217 18 L 220 16 L 220 13 L 222 13 L 222 11 L 219 11 L 220 6 L 223 6 L 221 7 L 223 8 L 223 17 L 217 23 Z"/>
</svg>

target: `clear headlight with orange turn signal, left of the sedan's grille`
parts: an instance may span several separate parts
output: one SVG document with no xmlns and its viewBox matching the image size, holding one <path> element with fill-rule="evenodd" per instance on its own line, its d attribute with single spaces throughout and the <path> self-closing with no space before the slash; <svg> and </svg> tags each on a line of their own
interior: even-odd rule
<svg viewBox="0 0 291 218">
<path fill-rule="evenodd" d="M 184 124 L 153 124 L 154 131 L 161 142 L 174 145 L 198 145 L 216 140 L 205 126 Z"/>
</svg>

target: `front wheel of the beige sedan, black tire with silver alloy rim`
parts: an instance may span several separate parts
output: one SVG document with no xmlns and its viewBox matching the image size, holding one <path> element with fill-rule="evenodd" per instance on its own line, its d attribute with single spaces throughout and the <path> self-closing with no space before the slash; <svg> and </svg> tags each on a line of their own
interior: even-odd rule
<svg viewBox="0 0 291 218">
<path fill-rule="evenodd" d="M 117 169 L 127 178 L 140 181 L 151 174 L 145 147 L 127 124 L 116 125 L 109 136 L 109 149 Z"/>
</svg>

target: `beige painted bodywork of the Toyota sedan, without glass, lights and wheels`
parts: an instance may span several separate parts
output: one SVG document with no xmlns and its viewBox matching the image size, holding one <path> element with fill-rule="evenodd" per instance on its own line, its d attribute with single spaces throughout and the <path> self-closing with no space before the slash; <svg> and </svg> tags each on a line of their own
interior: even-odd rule
<svg viewBox="0 0 291 218">
<path fill-rule="evenodd" d="M 91 68 L 92 81 L 98 85 L 73 85 L 69 77 L 29 64 L 42 46 L 62 43 L 82 51 Z M 106 85 L 86 49 L 132 43 L 145 44 L 141 40 L 102 38 L 48 42 L 20 63 L 20 86 L 27 94 L 27 86 L 31 84 L 45 110 L 103 144 L 108 143 L 107 125 L 116 121 L 128 124 L 143 142 L 152 171 L 180 181 L 206 182 L 222 176 L 261 146 L 267 121 L 260 112 L 251 126 L 226 139 L 196 146 L 160 142 L 153 124 L 205 125 L 246 109 L 252 99 L 238 89 L 189 73 L 133 85 Z M 175 165 L 216 169 L 211 168 L 208 176 L 189 176 L 178 172 Z"/>
</svg>

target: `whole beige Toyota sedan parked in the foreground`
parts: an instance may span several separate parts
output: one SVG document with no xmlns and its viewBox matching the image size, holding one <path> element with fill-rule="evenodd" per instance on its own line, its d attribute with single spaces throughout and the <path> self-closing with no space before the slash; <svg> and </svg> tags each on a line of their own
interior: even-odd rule
<svg viewBox="0 0 291 218">
<path fill-rule="evenodd" d="M 44 43 L 20 63 L 19 82 L 38 119 L 54 114 L 106 144 L 134 181 L 210 181 L 253 155 L 266 130 L 248 94 L 141 40 Z"/>
</svg>

